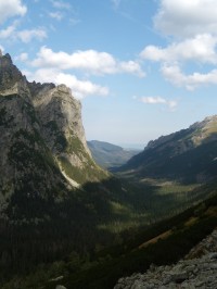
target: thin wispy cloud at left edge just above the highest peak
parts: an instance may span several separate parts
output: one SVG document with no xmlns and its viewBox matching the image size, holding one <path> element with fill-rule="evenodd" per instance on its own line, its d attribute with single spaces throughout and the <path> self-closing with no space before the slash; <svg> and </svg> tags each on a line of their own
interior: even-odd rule
<svg viewBox="0 0 217 289">
<path fill-rule="evenodd" d="M 14 21 L 5 29 L 0 30 L 0 39 L 7 40 L 21 40 L 24 43 L 31 41 L 33 39 L 42 40 L 47 37 L 47 32 L 43 28 L 34 29 L 17 29 L 18 22 Z"/>
</svg>

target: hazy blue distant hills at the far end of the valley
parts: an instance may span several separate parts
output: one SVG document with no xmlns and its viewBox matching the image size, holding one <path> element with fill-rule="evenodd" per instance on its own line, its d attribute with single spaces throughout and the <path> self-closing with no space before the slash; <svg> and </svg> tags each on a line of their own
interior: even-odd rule
<svg viewBox="0 0 217 289">
<path fill-rule="evenodd" d="M 140 152 L 137 149 L 124 149 L 99 140 L 87 141 L 87 143 L 94 161 L 104 168 L 120 166 Z"/>
</svg>

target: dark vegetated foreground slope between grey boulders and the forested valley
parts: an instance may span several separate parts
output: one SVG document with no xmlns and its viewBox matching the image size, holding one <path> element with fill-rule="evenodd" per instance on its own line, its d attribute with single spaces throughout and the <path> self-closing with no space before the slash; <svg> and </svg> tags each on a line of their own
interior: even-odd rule
<svg viewBox="0 0 217 289">
<path fill-rule="evenodd" d="M 203 190 L 213 191 L 214 197 L 154 226 L 139 231 L 130 229 L 122 244 L 95 250 L 93 255 L 72 252 L 59 262 L 41 264 L 35 273 L 16 277 L 2 288 L 20 288 L 15 287 L 20 280 L 22 288 L 29 289 L 53 289 L 58 284 L 66 288 L 112 289 L 122 276 L 144 272 L 153 263 L 174 263 L 216 227 L 216 183 Z"/>
</svg>

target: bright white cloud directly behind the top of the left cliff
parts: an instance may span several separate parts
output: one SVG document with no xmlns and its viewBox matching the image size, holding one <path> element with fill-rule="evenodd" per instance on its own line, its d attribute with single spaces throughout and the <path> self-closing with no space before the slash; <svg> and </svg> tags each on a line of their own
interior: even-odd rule
<svg viewBox="0 0 217 289">
<path fill-rule="evenodd" d="M 72 74 L 65 74 L 59 70 L 41 68 L 35 73 L 23 72 L 29 80 L 36 80 L 40 83 L 54 83 L 56 85 L 64 84 L 72 89 L 73 95 L 78 98 L 85 98 L 87 96 L 107 96 L 108 88 L 93 84 L 89 80 L 79 80 Z"/>
</svg>

